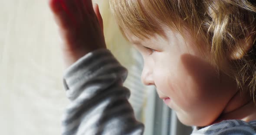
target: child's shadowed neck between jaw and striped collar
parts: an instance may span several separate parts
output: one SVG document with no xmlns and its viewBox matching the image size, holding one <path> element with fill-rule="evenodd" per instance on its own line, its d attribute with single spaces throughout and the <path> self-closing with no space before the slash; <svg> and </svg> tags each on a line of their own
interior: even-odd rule
<svg viewBox="0 0 256 135">
<path fill-rule="evenodd" d="M 249 93 L 242 94 L 238 91 L 227 103 L 223 113 L 213 124 L 228 119 L 239 119 L 245 122 L 256 119 L 256 105 Z"/>
</svg>

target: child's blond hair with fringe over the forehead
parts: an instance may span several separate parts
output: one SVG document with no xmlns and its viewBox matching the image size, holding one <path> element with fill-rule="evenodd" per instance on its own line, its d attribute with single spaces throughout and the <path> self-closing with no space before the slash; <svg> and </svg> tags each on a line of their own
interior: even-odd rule
<svg viewBox="0 0 256 135">
<path fill-rule="evenodd" d="M 217 67 L 234 80 L 240 90 L 256 95 L 256 6 L 253 0 L 110 0 L 121 32 L 140 39 L 163 35 L 164 26 L 186 26 L 195 39 L 200 36 Z M 242 44 L 241 44 L 242 41 Z M 240 44 L 238 44 L 240 43 Z M 249 50 L 243 49 L 248 44 Z M 241 49 L 242 48 L 242 49 Z M 237 51 L 241 58 L 232 59 Z M 229 69 L 221 68 L 226 59 Z"/>
</svg>

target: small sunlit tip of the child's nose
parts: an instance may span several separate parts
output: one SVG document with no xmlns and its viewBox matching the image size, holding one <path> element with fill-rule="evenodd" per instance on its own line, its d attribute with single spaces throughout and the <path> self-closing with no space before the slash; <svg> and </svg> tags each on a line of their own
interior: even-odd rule
<svg viewBox="0 0 256 135">
<path fill-rule="evenodd" d="M 152 77 L 152 71 L 149 70 L 147 67 L 143 68 L 142 74 L 141 74 L 141 81 L 145 85 L 154 85 L 154 80 Z"/>
</svg>

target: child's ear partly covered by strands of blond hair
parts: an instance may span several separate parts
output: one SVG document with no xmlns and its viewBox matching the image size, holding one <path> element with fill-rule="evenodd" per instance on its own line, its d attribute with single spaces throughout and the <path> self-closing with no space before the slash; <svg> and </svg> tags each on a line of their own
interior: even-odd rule
<svg viewBox="0 0 256 135">
<path fill-rule="evenodd" d="M 234 48 L 230 50 L 230 59 L 241 59 L 246 53 L 248 53 L 255 42 L 254 36 L 249 36 L 246 39 L 240 39 Z"/>
</svg>

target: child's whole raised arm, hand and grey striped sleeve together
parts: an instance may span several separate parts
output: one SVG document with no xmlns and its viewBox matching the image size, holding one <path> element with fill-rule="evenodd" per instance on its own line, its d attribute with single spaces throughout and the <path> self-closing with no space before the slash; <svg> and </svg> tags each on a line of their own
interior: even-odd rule
<svg viewBox="0 0 256 135">
<path fill-rule="evenodd" d="M 142 135 L 122 84 L 127 70 L 106 49 L 103 23 L 91 0 L 50 0 L 68 67 L 63 76 L 71 103 L 63 116 L 63 135 Z"/>
</svg>

